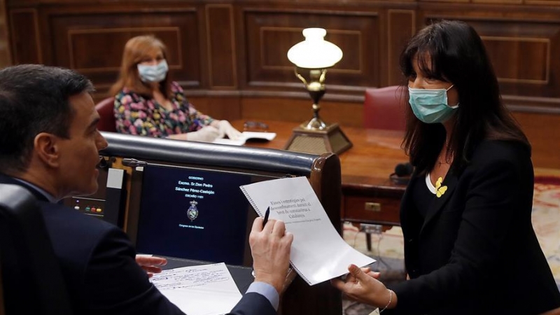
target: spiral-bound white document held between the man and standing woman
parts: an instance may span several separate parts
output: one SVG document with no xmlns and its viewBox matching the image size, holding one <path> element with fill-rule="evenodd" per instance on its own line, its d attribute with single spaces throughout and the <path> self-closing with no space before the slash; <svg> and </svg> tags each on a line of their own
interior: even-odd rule
<svg viewBox="0 0 560 315">
<path fill-rule="evenodd" d="M 348 273 L 350 264 L 363 267 L 375 261 L 340 237 L 306 177 L 273 179 L 240 188 L 259 216 L 270 207 L 269 219 L 286 223 L 286 230 L 293 234 L 290 262 L 309 285 Z"/>
</svg>

